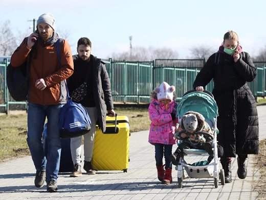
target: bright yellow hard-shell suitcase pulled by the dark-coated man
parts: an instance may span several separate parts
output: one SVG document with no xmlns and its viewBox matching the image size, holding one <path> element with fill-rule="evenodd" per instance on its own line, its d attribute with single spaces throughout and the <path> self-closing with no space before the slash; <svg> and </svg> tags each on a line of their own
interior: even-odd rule
<svg viewBox="0 0 266 200">
<path fill-rule="evenodd" d="M 95 170 L 123 170 L 129 162 L 129 122 L 127 116 L 106 117 L 106 131 L 97 128 L 92 166 Z"/>
</svg>

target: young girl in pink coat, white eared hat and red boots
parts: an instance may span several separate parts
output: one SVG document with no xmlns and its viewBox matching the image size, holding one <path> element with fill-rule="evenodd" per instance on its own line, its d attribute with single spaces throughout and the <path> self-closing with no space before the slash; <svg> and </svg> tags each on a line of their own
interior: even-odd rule
<svg viewBox="0 0 266 200">
<path fill-rule="evenodd" d="M 151 93 L 152 98 L 148 108 L 151 121 L 149 143 L 155 147 L 158 179 L 162 184 L 172 183 L 172 163 L 168 157 L 172 154 L 172 146 L 176 144 L 174 132 L 178 123 L 178 119 L 175 118 L 178 104 L 173 99 L 174 91 L 174 86 L 163 82 Z"/>
</svg>

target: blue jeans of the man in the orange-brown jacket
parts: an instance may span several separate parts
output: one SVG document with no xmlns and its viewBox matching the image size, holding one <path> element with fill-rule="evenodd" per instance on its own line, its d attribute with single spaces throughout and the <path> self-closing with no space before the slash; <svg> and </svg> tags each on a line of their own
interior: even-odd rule
<svg viewBox="0 0 266 200">
<path fill-rule="evenodd" d="M 36 170 L 46 171 L 46 182 L 58 178 L 61 154 L 59 114 L 63 105 L 28 104 L 28 146 Z M 47 117 L 47 156 L 42 143 L 43 125 Z"/>
</svg>

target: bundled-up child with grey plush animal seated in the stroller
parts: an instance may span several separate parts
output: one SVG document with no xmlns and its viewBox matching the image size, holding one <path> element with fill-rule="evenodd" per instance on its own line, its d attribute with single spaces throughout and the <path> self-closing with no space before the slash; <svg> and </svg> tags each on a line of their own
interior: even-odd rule
<svg viewBox="0 0 266 200">
<path fill-rule="evenodd" d="M 180 157 L 184 156 L 184 149 L 204 149 L 209 154 L 207 159 L 210 163 L 213 159 L 212 138 L 201 132 L 210 133 L 213 136 L 210 126 L 205 118 L 198 112 L 188 111 L 181 117 L 179 128 L 174 137 L 181 143 L 172 155 L 169 156 L 173 165 L 178 165 Z"/>
</svg>

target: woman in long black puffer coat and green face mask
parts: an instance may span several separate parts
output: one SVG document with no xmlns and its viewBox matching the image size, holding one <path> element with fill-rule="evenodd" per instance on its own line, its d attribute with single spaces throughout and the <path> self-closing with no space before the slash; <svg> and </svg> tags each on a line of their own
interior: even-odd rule
<svg viewBox="0 0 266 200">
<path fill-rule="evenodd" d="M 237 175 L 247 175 L 245 161 L 248 154 L 258 154 L 259 128 L 255 98 L 247 84 L 252 82 L 257 70 L 250 55 L 243 52 L 234 31 L 224 35 L 224 42 L 217 53 L 212 54 L 193 88 L 203 91 L 213 78 L 213 96 L 218 106 L 217 140 L 224 148 L 220 158 L 225 170 L 225 182 L 231 183 L 231 157 L 237 154 Z"/>
</svg>

